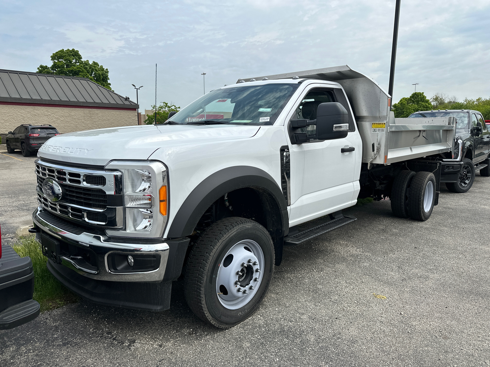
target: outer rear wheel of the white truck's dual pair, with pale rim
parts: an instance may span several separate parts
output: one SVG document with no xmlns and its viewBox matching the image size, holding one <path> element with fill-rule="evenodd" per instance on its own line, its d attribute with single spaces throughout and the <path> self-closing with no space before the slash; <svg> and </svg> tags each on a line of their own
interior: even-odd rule
<svg viewBox="0 0 490 367">
<path fill-rule="evenodd" d="M 436 177 L 431 172 L 417 172 L 411 188 L 410 216 L 417 221 L 426 221 L 436 201 Z"/>
</svg>

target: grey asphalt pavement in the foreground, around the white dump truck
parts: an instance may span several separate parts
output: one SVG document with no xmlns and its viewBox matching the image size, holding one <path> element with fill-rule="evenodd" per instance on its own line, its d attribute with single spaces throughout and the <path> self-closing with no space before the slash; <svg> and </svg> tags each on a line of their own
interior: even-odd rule
<svg viewBox="0 0 490 367">
<path fill-rule="evenodd" d="M 9 200 L 36 205 L 32 187 L 1 184 L 3 231 Z M 80 301 L 0 331 L 0 366 L 489 366 L 489 186 L 442 187 L 427 222 L 389 201 L 344 211 L 358 220 L 285 248 L 263 305 L 229 330 L 197 319 L 175 283 L 162 313 Z"/>
</svg>

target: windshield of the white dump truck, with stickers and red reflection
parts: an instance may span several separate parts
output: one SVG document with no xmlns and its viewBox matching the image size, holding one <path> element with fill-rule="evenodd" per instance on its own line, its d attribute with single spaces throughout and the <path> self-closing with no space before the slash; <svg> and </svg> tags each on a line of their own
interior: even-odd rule
<svg viewBox="0 0 490 367">
<path fill-rule="evenodd" d="M 266 84 L 217 89 L 173 115 L 179 124 L 214 121 L 233 125 L 272 125 L 299 84 Z"/>
</svg>

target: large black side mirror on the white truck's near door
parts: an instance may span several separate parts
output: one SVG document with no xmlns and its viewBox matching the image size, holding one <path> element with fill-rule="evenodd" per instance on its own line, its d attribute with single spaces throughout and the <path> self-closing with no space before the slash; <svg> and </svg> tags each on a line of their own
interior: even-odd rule
<svg viewBox="0 0 490 367">
<path fill-rule="evenodd" d="M 317 139 L 331 140 L 347 137 L 349 115 L 339 102 L 320 103 L 317 110 Z"/>
</svg>

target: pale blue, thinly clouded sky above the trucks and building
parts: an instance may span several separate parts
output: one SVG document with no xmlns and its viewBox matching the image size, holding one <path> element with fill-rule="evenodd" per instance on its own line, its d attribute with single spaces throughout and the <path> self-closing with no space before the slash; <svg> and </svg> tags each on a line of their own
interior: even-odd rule
<svg viewBox="0 0 490 367">
<path fill-rule="evenodd" d="M 238 78 L 337 65 L 386 91 L 395 0 L 0 2 L 0 69 L 36 71 L 75 48 L 142 109 L 184 107 Z M 402 0 L 394 100 L 414 91 L 490 97 L 490 1 Z M 141 110 L 140 110 L 141 111 Z"/>
</svg>

